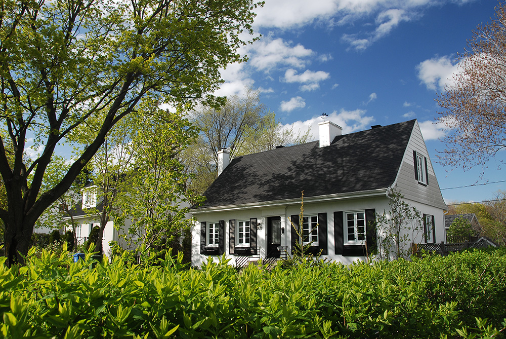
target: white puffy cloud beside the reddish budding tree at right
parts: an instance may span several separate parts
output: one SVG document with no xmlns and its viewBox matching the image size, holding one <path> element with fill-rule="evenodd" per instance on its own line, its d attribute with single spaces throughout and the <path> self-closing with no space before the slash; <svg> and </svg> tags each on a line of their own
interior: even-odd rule
<svg viewBox="0 0 506 339">
<path fill-rule="evenodd" d="M 453 75 L 457 73 L 458 64 L 449 56 L 427 59 L 416 66 L 418 79 L 434 91 L 443 91 L 445 86 L 453 84 Z"/>
</svg>

